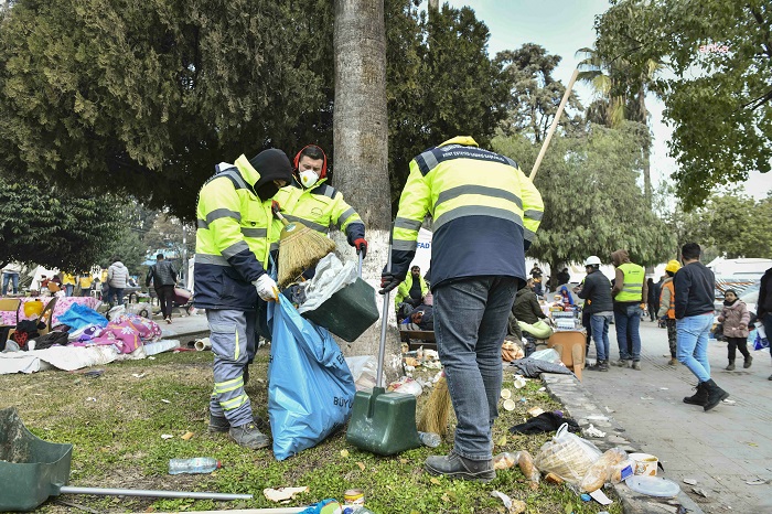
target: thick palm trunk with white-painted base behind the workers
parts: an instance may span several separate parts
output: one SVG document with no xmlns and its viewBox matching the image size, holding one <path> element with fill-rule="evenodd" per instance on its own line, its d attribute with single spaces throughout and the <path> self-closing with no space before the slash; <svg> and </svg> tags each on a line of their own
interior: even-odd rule
<svg viewBox="0 0 772 514">
<path fill-rule="evenodd" d="M 362 276 L 376 289 L 387 259 L 392 206 L 388 180 L 386 117 L 386 28 L 383 0 L 335 0 L 335 107 L 333 144 L 335 183 L 360 213 L 369 249 Z M 339 249 L 356 258 L 342 234 Z M 378 308 L 383 298 L 377 295 Z M 393 298 L 393 297 L 392 297 Z M 394 319 L 394 310 L 388 309 Z M 396 320 L 389 330 L 387 356 L 398 353 Z M 380 325 L 376 323 L 346 354 L 377 355 Z M 387 358 L 388 361 L 388 358 Z M 386 363 L 388 364 L 388 362 Z"/>
</svg>

